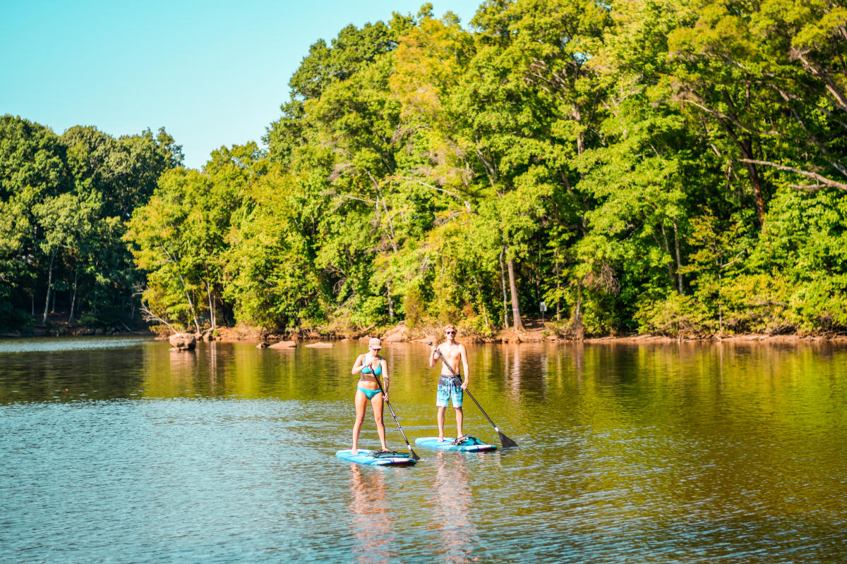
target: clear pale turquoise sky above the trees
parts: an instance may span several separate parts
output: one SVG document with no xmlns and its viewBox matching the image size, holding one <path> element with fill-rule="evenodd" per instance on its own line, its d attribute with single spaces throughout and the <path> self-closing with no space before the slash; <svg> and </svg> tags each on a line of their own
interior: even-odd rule
<svg viewBox="0 0 847 564">
<path fill-rule="evenodd" d="M 467 25 L 481 0 L 432 0 Z M 0 115 L 167 129 L 185 165 L 261 137 L 308 47 L 423 0 L 0 0 Z"/>
</svg>

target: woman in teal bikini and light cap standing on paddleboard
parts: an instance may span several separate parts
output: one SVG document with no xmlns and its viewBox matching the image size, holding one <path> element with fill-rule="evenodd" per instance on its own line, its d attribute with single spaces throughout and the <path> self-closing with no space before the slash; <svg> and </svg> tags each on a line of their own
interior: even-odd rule
<svg viewBox="0 0 847 564">
<path fill-rule="evenodd" d="M 356 386 L 356 397 L 353 400 L 356 406 L 356 423 L 353 424 L 353 446 L 350 449 L 352 454 L 358 452 L 359 431 L 362 430 L 362 424 L 365 420 L 368 400 L 371 407 L 374 408 L 374 422 L 382 450 L 388 450 L 388 446 L 385 446 L 385 424 L 382 422 L 382 402 L 388 400 L 388 365 L 385 363 L 385 359 L 379 356 L 381 349 L 382 343 L 379 342 L 378 338 L 373 337 L 368 341 L 368 352 L 360 354 L 356 359 L 356 364 L 353 364 L 352 374 L 358 374 L 360 377 Z M 374 375 L 382 378 L 382 388 L 385 392 L 379 391 L 379 384 Z"/>
</svg>

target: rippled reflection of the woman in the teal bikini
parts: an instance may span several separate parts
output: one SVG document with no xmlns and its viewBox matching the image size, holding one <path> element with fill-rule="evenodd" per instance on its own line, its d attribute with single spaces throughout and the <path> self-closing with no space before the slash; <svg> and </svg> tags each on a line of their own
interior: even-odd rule
<svg viewBox="0 0 847 564">
<path fill-rule="evenodd" d="M 350 514 L 353 554 L 362 564 L 392 561 L 396 535 L 391 528 L 391 504 L 385 492 L 384 472 L 363 472 L 350 465 Z"/>
</svg>

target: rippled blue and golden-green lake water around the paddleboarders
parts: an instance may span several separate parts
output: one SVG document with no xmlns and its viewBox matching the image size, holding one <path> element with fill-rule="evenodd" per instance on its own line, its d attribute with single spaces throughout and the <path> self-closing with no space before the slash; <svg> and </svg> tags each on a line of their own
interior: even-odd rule
<svg viewBox="0 0 847 564">
<path fill-rule="evenodd" d="M 469 346 L 520 446 L 371 468 L 334 456 L 363 345 L 254 344 L 0 342 L 0 562 L 847 561 L 844 348 Z M 403 429 L 435 435 L 428 348 L 383 353 Z"/>
</svg>

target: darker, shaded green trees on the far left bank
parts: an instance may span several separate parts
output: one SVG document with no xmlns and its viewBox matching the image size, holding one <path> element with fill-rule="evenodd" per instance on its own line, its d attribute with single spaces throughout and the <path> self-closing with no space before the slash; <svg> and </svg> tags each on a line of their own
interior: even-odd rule
<svg viewBox="0 0 847 564">
<path fill-rule="evenodd" d="M 140 320 L 133 294 L 143 277 L 122 239 L 126 222 L 181 159 L 163 129 L 114 139 L 73 127 L 58 136 L 0 117 L 0 328 Z"/>
</svg>

